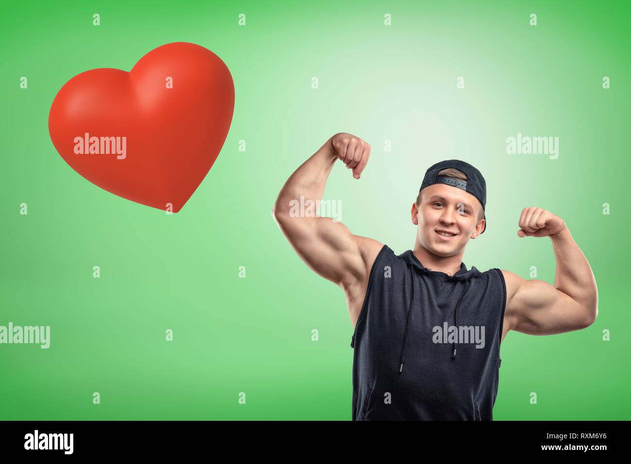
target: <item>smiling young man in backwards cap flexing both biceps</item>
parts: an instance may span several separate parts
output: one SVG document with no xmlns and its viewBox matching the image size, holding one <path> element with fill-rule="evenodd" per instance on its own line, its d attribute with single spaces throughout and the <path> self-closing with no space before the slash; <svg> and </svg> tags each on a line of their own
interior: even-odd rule
<svg viewBox="0 0 631 464">
<path fill-rule="evenodd" d="M 272 215 L 298 256 L 341 287 L 351 324 L 352 420 L 492 420 L 500 343 L 509 330 L 550 335 L 591 325 L 592 270 L 565 222 L 531 206 L 519 237 L 550 237 L 555 285 L 462 262 L 486 228 L 486 183 L 459 160 L 430 167 L 411 209 L 414 251 L 353 235 L 327 217 L 299 217 L 290 202 L 322 199 L 336 160 L 360 179 L 370 145 L 338 133 L 290 176 Z"/>
</svg>

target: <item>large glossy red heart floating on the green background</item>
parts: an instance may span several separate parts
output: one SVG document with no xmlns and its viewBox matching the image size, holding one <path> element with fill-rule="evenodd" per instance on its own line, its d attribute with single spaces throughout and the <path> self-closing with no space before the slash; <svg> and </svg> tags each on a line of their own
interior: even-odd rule
<svg viewBox="0 0 631 464">
<path fill-rule="evenodd" d="M 129 73 L 74 76 L 52 102 L 48 128 L 59 155 L 88 181 L 177 213 L 219 155 L 234 102 L 224 62 L 177 42 L 150 51 Z"/>
</svg>

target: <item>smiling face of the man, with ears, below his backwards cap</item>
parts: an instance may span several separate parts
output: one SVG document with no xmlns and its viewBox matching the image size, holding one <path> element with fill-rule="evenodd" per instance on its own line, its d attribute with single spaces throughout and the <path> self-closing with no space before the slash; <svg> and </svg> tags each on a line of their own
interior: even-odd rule
<svg viewBox="0 0 631 464">
<path fill-rule="evenodd" d="M 433 184 L 422 191 L 421 203 L 412 205 L 412 222 L 418 225 L 418 242 L 438 256 L 461 253 L 469 239 L 475 239 L 484 229 L 478 224 L 480 201 L 458 187 Z M 440 235 L 438 231 L 454 234 Z"/>
</svg>

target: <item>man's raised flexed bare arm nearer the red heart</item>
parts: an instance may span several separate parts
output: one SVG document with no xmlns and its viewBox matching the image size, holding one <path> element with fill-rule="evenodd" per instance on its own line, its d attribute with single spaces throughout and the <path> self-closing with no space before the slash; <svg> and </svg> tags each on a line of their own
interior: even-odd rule
<svg viewBox="0 0 631 464">
<path fill-rule="evenodd" d="M 369 154 L 370 145 L 360 138 L 346 133 L 335 134 L 293 172 L 272 210 L 274 220 L 300 259 L 345 291 L 353 326 L 361 309 L 357 309 L 357 300 L 363 301 L 370 268 L 383 245 L 351 234 L 343 223 L 334 222 L 329 217 L 292 216 L 290 202 L 296 200 L 300 204 L 302 196 L 302 201 L 312 200 L 317 204 L 338 158 L 353 170 L 356 179 L 360 178 Z"/>
</svg>

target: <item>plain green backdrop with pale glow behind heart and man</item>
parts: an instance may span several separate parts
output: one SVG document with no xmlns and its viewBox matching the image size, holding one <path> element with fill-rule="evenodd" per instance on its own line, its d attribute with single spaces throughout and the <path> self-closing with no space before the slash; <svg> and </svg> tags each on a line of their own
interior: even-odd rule
<svg viewBox="0 0 631 464">
<path fill-rule="evenodd" d="M 0 345 L 0 419 L 350 420 L 344 294 L 271 217 L 289 175 L 338 132 L 369 142 L 370 162 L 360 181 L 336 164 L 324 199 L 341 201 L 351 232 L 396 253 L 413 248 L 411 204 L 427 167 L 444 159 L 487 179 L 488 229 L 469 242 L 468 268 L 529 278 L 536 266 L 553 283 L 550 239 L 520 239 L 517 222 L 528 206 L 562 217 L 596 276 L 598 319 L 553 336 L 511 331 L 493 417 L 628 419 L 626 4 L 4 4 L 0 325 L 51 335 L 47 350 Z M 215 52 L 235 83 L 225 145 L 174 215 L 83 179 L 47 126 L 70 78 L 129 71 L 170 42 Z M 558 159 L 507 155 L 518 132 L 558 136 Z"/>
</svg>

